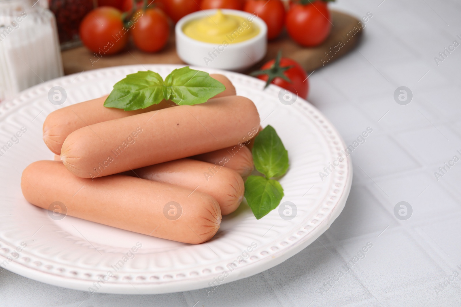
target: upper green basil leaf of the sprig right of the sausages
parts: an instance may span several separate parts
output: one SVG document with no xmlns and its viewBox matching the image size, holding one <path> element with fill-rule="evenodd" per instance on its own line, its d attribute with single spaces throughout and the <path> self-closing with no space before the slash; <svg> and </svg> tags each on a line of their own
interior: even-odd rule
<svg viewBox="0 0 461 307">
<path fill-rule="evenodd" d="M 256 136 L 252 152 L 255 168 L 267 178 L 286 173 L 288 151 L 272 126 L 268 125 Z"/>
</svg>

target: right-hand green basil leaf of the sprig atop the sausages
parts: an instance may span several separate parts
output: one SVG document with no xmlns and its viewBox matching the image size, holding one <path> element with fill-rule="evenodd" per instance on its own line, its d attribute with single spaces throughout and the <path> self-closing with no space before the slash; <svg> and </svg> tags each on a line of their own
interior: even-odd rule
<svg viewBox="0 0 461 307">
<path fill-rule="evenodd" d="M 165 78 L 163 96 L 176 104 L 201 104 L 225 89 L 224 84 L 208 73 L 186 66 L 173 70 Z"/>
</svg>

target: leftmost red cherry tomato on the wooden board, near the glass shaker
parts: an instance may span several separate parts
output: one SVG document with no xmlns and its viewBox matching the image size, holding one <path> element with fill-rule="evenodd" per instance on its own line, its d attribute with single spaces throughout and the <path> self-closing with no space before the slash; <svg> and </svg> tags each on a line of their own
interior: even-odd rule
<svg viewBox="0 0 461 307">
<path fill-rule="evenodd" d="M 128 42 L 127 32 L 122 12 L 111 6 L 101 6 L 88 13 L 79 29 L 83 44 L 101 55 L 122 50 Z"/>
</svg>

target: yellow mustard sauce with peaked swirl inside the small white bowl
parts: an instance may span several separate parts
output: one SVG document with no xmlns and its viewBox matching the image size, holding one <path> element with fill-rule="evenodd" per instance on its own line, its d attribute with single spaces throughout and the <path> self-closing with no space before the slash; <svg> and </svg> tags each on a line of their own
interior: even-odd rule
<svg viewBox="0 0 461 307">
<path fill-rule="evenodd" d="M 186 23 L 183 32 L 197 41 L 227 45 L 247 41 L 258 35 L 260 29 L 248 18 L 223 14 L 218 10 L 213 16 Z"/>
</svg>

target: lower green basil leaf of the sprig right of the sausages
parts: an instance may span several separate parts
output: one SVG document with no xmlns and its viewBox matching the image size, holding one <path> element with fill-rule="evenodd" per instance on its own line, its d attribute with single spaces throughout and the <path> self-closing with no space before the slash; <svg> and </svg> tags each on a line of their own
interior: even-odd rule
<svg viewBox="0 0 461 307">
<path fill-rule="evenodd" d="M 276 180 L 249 176 L 245 181 L 245 198 L 256 219 L 277 208 L 284 197 L 284 189 Z"/>
</svg>

